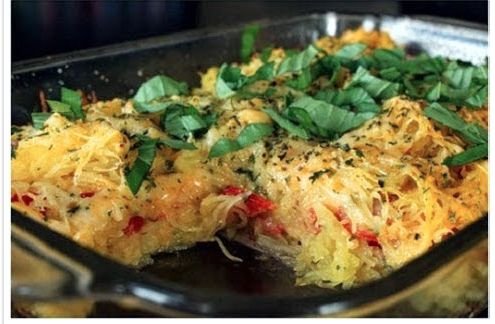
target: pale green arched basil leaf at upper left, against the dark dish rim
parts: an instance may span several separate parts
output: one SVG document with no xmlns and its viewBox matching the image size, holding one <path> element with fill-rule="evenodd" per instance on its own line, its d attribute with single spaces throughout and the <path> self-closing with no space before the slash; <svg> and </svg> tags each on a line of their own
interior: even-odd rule
<svg viewBox="0 0 495 324">
<path fill-rule="evenodd" d="M 162 97 L 185 95 L 188 91 L 187 83 L 175 81 L 165 75 L 157 75 L 141 84 L 134 101 L 150 102 Z"/>
</svg>

